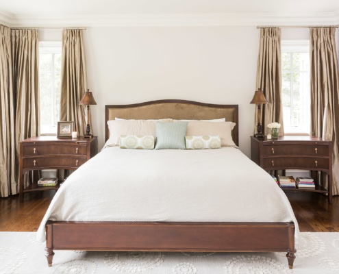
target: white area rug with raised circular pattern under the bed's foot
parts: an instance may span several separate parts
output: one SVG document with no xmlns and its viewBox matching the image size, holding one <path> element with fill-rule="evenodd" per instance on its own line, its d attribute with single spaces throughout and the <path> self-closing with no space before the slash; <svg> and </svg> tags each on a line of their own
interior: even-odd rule
<svg viewBox="0 0 339 274">
<path fill-rule="evenodd" d="M 294 269 L 285 253 L 55 251 L 47 266 L 35 232 L 0 232 L 0 273 L 339 273 L 339 232 L 301 233 Z"/>
</svg>

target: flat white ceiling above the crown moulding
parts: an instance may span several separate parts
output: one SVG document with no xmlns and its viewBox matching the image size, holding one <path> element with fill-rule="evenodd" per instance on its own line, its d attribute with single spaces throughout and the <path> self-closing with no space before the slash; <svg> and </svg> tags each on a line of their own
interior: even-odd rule
<svg viewBox="0 0 339 274">
<path fill-rule="evenodd" d="M 1 0 L 12 14 L 173 14 L 336 12 L 338 0 Z"/>
</svg>

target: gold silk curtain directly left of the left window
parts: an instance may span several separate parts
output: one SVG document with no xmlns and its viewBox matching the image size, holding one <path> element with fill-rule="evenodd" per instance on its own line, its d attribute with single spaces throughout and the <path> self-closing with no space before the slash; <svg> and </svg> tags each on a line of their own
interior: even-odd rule
<svg viewBox="0 0 339 274">
<path fill-rule="evenodd" d="M 12 30 L 16 177 L 18 177 L 18 142 L 40 135 L 38 40 L 39 32 L 36 29 Z M 28 177 L 26 173 L 24 182 L 20 184 L 26 187 L 29 182 L 32 182 L 32 175 Z"/>
</svg>

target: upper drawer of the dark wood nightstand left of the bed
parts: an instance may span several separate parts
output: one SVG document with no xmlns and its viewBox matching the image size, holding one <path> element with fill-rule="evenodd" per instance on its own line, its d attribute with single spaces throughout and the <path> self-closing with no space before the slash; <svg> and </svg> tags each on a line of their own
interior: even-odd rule
<svg viewBox="0 0 339 274">
<path fill-rule="evenodd" d="M 23 146 L 23 155 L 35 156 L 35 155 L 51 155 L 51 154 L 63 154 L 63 155 L 87 155 L 86 144 L 58 144 L 58 145 L 37 145 L 37 144 L 25 144 Z"/>
</svg>

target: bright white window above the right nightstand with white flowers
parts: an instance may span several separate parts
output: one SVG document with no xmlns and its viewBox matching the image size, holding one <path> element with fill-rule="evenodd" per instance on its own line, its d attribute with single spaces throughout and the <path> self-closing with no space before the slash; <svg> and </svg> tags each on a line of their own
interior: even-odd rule
<svg viewBox="0 0 339 274">
<path fill-rule="evenodd" d="M 281 41 L 281 96 L 286 134 L 310 134 L 309 51 L 309 41 Z"/>
</svg>

